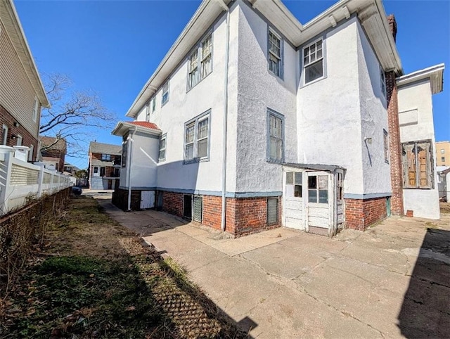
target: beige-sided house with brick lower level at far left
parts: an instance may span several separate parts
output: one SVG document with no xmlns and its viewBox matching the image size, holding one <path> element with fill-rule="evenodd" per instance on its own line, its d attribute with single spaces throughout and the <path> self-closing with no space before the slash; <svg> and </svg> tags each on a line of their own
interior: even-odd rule
<svg viewBox="0 0 450 339">
<path fill-rule="evenodd" d="M 37 158 L 41 106 L 49 107 L 13 1 L 0 1 L 0 144 Z"/>
</svg>

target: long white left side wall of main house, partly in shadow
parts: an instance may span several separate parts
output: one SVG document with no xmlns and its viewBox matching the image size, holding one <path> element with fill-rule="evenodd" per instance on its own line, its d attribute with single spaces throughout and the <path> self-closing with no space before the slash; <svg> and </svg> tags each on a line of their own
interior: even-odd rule
<svg viewBox="0 0 450 339">
<path fill-rule="evenodd" d="M 230 14 L 230 60 L 229 60 L 229 141 L 227 160 L 227 191 L 236 188 L 236 107 L 237 107 L 237 54 L 238 11 L 236 4 Z M 156 110 L 150 115 L 162 134 L 167 134 L 166 160 L 158 164 L 159 188 L 197 189 L 221 191 L 222 138 L 224 113 L 224 72 L 226 50 L 226 15 L 221 16 L 212 28 L 212 73 L 186 92 L 188 74 L 187 56 L 170 77 L 169 101 L 161 107 L 162 91 L 156 93 Z M 183 164 L 184 124 L 193 117 L 211 110 L 210 113 L 210 160 Z M 136 117 L 145 121 L 146 111 Z M 141 141 L 140 141 L 141 142 Z M 146 143 L 148 141 L 142 141 Z M 138 173 L 138 172 L 136 172 Z M 143 172 L 136 174 L 143 176 Z M 146 173 L 145 177 L 148 178 Z M 133 186 L 134 183 L 133 183 Z"/>
</svg>

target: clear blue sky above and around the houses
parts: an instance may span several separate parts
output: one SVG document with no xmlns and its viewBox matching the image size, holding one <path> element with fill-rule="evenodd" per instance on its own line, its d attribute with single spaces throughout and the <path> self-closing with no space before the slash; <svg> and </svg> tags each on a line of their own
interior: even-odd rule
<svg viewBox="0 0 450 339">
<path fill-rule="evenodd" d="M 20 22 L 39 72 L 72 78 L 77 89 L 92 89 L 118 120 L 158 67 L 201 1 L 15 0 Z M 285 0 L 301 23 L 336 1 Z M 450 67 L 450 1 L 384 1 L 394 13 L 397 49 L 406 73 L 437 63 Z M 169 23 L 169 24 L 168 24 Z M 450 85 L 433 96 L 436 140 L 450 140 Z M 96 139 L 120 143 L 110 130 Z M 86 158 L 68 158 L 78 167 Z"/>
</svg>

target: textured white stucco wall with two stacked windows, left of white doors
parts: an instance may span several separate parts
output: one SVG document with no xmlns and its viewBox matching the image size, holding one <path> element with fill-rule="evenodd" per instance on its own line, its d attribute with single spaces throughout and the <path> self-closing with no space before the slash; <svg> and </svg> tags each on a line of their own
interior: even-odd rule
<svg viewBox="0 0 450 339">
<path fill-rule="evenodd" d="M 267 109 L 284 116 L 286 162 L 297 160 L 297 53 L 283 41 L 283 79 L 267 62 L 268 23 L 241 1 L 239 10 L 236 191 L 281 191 L 281 165 L 267 162 Z"/>
</svg>

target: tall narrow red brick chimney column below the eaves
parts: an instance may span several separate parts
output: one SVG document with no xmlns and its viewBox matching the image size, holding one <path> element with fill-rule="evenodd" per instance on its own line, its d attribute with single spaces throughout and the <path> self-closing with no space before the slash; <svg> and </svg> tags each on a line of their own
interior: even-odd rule
<svg viewBox="0 0 450 339">
<path fill-rule="evenodd" d="M 389 127 L 389 155 L 392 186 L 391 209 L 394 215 L 403 215 L 403 167 L 399 127 L 399 105 L 395 73 L 386 72 L 387 124 Z"/>
</svg>

